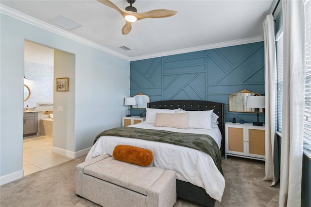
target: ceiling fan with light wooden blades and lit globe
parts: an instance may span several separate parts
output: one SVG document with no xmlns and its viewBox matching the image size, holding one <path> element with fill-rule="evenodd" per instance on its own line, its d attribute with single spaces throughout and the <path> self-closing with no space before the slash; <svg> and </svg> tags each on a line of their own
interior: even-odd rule
<svg viewBox="0 0 311 207">
<path fill-rule="evenodd" d="M 144 18 L 162 18 L 162 17 L 171 17 L 177 14 L 177 11 L 167 10 L 167 9 L 156 9 L 149 12 L 137 13 L 137 9 L 132 6 L 136 0 L 127 0 L 130 6 L 126 7 L 125 10 L 118 7 L 110 0 L 98 0 L 102 4 L 109 6 L 117 10 L 125 19 L 125 25 L 122 28 L 122 34 L 127 35 L 131 32 L 132 22 L 135 22 L 139 19 Z"/>
</svg>

